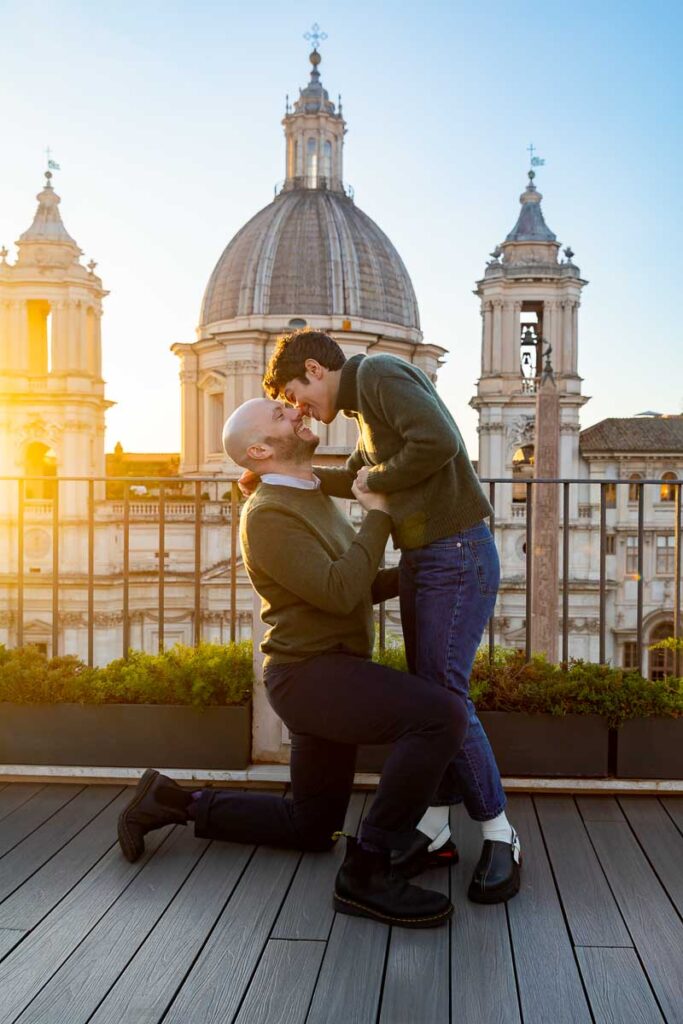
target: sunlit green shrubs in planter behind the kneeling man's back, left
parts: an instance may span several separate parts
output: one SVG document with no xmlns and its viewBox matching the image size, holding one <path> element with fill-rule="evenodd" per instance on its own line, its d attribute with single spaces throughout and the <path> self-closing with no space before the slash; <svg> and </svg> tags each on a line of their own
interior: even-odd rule
<svg viewBox="0 0 683 1024">
<path fill-rule="evenodd" d="M 102 669 L 36 647 L 0 646 L 0 700 L 14 703 L 242 705 L 253 684 L 252 644 L 176 644 L 161 654 L 131 650 Z"/>
</svg>

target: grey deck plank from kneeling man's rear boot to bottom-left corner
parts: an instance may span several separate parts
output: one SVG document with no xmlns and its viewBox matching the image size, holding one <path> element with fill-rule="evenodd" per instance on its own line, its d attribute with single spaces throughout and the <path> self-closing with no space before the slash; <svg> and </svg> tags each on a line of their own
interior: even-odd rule
<svg viewBox="0 0 683 1024">
<path fill-rule="evenodd" d="M 142 870 L 168 828 L 152 833 L 146 852 L 129 864 L 111 850 L 38 928 L 0 964 L 0 1024 L 11 1024 Z"/>
</svg>

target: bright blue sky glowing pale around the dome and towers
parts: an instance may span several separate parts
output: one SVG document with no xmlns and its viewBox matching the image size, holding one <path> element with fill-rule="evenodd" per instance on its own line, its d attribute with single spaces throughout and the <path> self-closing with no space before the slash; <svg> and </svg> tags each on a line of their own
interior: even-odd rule
<svg viewBox="0 0 683 1024">
<path fill-rule="evenodd" d="M 683 5 L 0 0 L 0 246 L 28 227 L 44 151 L 70 233 L 111 295 L 106 447 L 179 447 L 178 364 L 234 232 L 285 176 L 285 94 L 323 83 L 345 178 L 401 254 L 440 390 L 476 455 L 474 282 L 514 224 L 526 146 L 546 220 L 590 285 L 583 425 L 683 412 Z M 13 254 L 12 254 L 13 258 Z"/>
</svg>

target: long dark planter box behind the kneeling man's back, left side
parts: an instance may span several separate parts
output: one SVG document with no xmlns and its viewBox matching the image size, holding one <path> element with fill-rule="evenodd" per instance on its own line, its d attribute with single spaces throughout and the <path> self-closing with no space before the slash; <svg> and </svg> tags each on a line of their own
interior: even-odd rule
<svg viewBox="0 0 683 1024">
<path fill-rule="evenodd" d="M 251 703 L 0 703 L 0 764 L 246 768 Z"/>
</svg>

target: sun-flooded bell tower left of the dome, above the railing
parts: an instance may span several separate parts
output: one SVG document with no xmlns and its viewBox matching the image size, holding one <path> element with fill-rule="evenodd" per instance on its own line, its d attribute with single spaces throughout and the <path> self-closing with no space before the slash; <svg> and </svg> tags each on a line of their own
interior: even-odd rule
<svg viewBox="0 0 683 1024">
<path fill-rule="evenodd" d="M 0 475 L 102 476 L 112 404 L 101 377 L 108 293 L 96 264 L 81 265 L 51 178 L 47 171 L 16 261 L 0 251 Z M 83 513 L 84 489 L 62 485 L 62 515 Z M 26 497 L 49 500 L 49 481 L 27 481 Z"/>
</svg>

